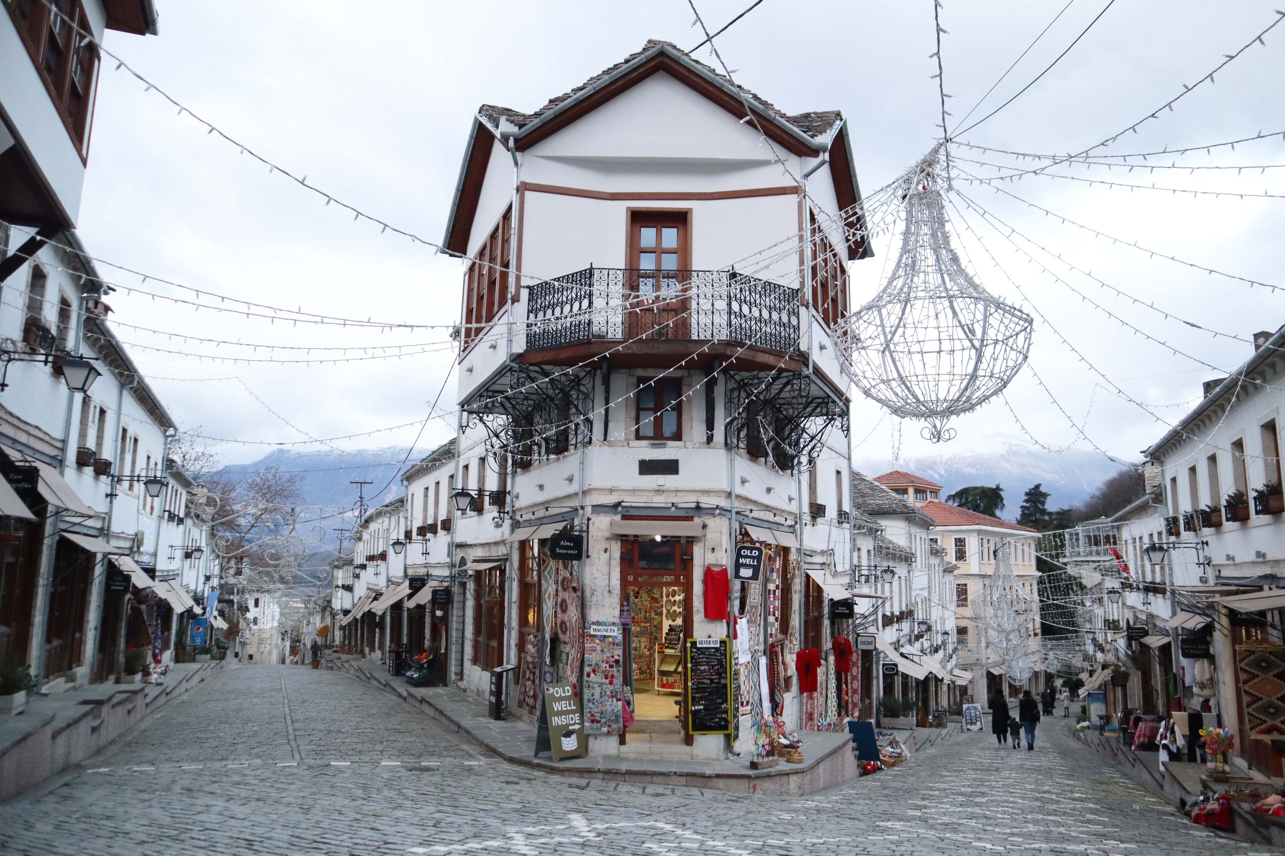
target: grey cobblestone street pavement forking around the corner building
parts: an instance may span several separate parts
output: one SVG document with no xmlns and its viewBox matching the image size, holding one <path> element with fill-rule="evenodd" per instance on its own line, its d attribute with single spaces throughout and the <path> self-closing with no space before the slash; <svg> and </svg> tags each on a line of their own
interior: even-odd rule
<svg viewBox="0 0 1285 856">
<path fill-rule="evenodd" d="M 500 761 L 339 672 L 229 669 L 0 806 L 15 853 L 1165 853 L 1194 826 L 1077 747 L 969 734 L 807 798 L 564 779 Z"/>
</svg>

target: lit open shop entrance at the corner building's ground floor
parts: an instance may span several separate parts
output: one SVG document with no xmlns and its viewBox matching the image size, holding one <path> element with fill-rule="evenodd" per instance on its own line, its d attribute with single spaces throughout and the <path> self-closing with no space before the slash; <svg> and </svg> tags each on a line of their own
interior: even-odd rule
<svg viewBox="0 0 1285 856">
<path fill-rule="evenodd" d="M 691 635 L 691 540 L 622 542 L 621 607 L 630 615 L 625 698 L 634 725 L 627 730 L 690 744 L 684 640 Z"/>
</svg>

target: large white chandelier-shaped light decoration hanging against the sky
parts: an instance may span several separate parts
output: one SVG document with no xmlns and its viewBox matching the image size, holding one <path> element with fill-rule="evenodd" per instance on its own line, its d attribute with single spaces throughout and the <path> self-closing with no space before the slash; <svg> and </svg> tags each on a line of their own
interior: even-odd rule
<svg viewBox="0 0 1285 856">
<path fill-rule="evenodd" d="M 1002 391 L 1031 349 L 1031 316 L 978 285 L 951 246 L 939 157 L 941 144 L 906 173 L 901 254 L 840 338 L 861 391 L 926 422 L 933 443 L 955 436 L 951 417 Z"/>
</svg>

